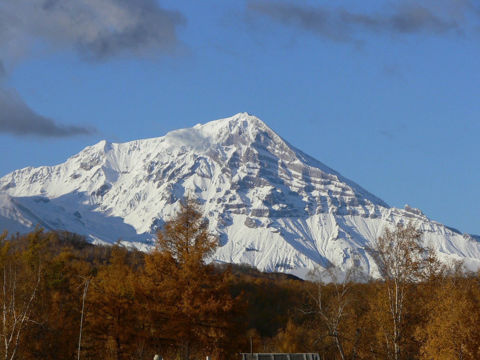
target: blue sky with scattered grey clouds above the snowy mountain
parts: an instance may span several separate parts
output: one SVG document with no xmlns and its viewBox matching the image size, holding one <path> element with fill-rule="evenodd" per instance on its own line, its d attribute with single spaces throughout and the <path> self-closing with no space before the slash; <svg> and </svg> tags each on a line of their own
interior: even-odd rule
<svg viewBox="0 0 480 360">
<path fill-rule="evenodd" d="M 0 176 L 246 111 L 391 206 L 480 234 L 480 5 L 332 4 L 2 1 Z"/>
</svg>

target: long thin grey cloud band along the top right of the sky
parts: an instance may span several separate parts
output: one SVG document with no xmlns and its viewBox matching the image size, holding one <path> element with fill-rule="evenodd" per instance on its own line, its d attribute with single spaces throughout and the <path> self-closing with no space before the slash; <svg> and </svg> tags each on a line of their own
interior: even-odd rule
<svg viewBox="0 0 480 360">
<path fill-rule="evenodd" d="M 466 13 L 479 15 L 468 0 L 399 1 L 382 12 L 357 13 L 343 7 L 309 6 L 285 1 L 250 1 L 251 17 L 266 16 L 277 23 L 296 27 L 338 41 L 358 41 L 361 33 L 388 35 L 443 35 L 464 33 Z"/>
</svg>

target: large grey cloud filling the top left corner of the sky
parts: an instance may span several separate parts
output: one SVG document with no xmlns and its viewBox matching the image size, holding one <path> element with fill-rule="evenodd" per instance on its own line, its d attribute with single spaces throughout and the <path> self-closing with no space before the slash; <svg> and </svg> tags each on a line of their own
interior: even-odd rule
<svg viewBox="0 0 480 360">
<path fill-rule="evenodd" d="M 155 56 L 176 48 L 185 23 L 155 0 L 2 0 L 0 49 L 12 59 L 38 48 L 87 60 Z"/>
</svg>

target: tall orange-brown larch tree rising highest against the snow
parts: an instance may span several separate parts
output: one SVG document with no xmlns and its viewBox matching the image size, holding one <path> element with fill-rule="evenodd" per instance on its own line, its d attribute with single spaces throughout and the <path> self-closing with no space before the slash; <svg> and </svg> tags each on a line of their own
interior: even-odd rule
<svg viewBox="0 0 480 360">
<path fill-rule="evenodd" d="M 157 319 L 157 338 L 173 346 L 181 359 L 222 352 L 239 328 L 230 320 L 236 301 L 228 292 L 228 272 L 209 263 L 217 244 L 200 204 L 187 194 L 145 257 L 143 288 L 150 299 L 148 311 Z"/>
</svg>

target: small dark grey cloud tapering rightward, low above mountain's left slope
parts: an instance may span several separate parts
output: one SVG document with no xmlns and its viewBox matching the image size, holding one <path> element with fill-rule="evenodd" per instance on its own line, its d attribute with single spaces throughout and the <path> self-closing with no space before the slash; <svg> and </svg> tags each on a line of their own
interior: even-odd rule
<svg viewBox="0 0 480 360">
<path fill-rule="evenodd" d="M 96 132 L 95 128 L 65 126 L 38 115 L 13 89 L 0 88 L 0 109 L 0 133 L 59 138 L 89 135 Z"/>
</svg>

